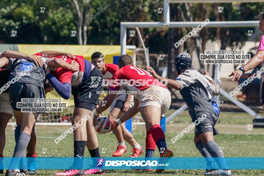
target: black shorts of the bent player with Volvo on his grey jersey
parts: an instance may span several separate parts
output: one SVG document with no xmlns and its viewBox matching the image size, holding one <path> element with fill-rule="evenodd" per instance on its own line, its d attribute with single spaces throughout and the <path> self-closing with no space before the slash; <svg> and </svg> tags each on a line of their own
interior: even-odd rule
<svg viewBox="0 0 264 176">
<path fill-rule="evenodd" d="M 9 100 L 12 108 L 16 111 L 21 111 L 16 108 L 16 102 L 21 102 L 21 98 L 46 98 L 44 88 L 30 83 L 16 82 L 10 85 Z"/>
</svg>

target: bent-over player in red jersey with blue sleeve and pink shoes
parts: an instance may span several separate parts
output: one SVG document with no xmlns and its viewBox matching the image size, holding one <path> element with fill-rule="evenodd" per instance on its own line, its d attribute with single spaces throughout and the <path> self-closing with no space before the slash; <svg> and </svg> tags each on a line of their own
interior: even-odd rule
<svg viewBox="0 0 264 176">
<path fill-rule="evenodd" d="M 55 51 L 45 51 L 41 53 L 46 54 L 48 58 L 51 57 L 55 60 L 63 59 L 67 63 L 73 61 L 73 58 L 65 57 L 63 55 L 53 57 L 52 55 L 56 53 Z M 98 139 L 93 128 L 92 116 L 93 110 L 95 109 L 95 105 L 97 105 L 97 100 L 100 96 L 100 94 L 97 94 L 97 91 L 103 90 L 103 87 L 101 86 L 103 74 L 101 71 L 92 65 L 90 61 L 84 59 L 83 56 L 75 55 L 75 57 L 76 59 L 74 61 L 79 64 L 79 71 L 74 73 L 65 68 L 58 68 L 51 71 L 46 77 L 58 94 L 64 99 L 70 98 L 70 92 L 73 94 L 75 108 L 71 121 L 72 124 L 76 124 L 87 115 L 91 118 L 73 131 L 73 166 L 64 172 L 55 173 L 55 175 L 104 174 L 104 169 L 95 169 L 96 163 L 94 164 L 95 166 L 89 168 L 85 172 L 83 169 L 75 169 L 83 166 L 82 158 L 84 157 L 84 150 L 87 143 L 87 148 L 91 157 L 100 157 Z"/>
</svg>

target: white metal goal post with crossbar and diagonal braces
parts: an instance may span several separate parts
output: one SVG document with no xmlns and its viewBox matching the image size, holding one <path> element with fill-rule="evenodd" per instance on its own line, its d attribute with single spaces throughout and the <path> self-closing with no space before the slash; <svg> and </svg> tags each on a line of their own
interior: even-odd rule
<svg viewBox="0 0 264 176">
<path fill-rule="evenodd" d="M 182 28 L 182 27 L 197 27 L 197 25 L 202 22 L 170 22 L 170 3 L 232 3 L 232 2 L 262 2 L 261 0 L 164 0 L 164 22 L 121 22 L 120 24 L 120 45 L 121 45 L 121 55 L 126 54 L 126 41 L 127 41 L 127 28 Z M 223 27 L 257 27 L 259 26 L 259 21 L 211 21 L 209 24 L 204 26 L 205 28 L 223 28 Z M 139 34 L 140 35 L 140 34 Z M 141 35 L 140 35 L 141 36 Z M 146 58 L 148 60 L 149 58 Z M 216 75 L 214 81 L 217 84 L 220 83 L 219 79 L 219 65 L 216 69 Z M 220 94 L 225 96 L 231 102 L 235 103 L 238 107 L 246 111 L 248 114 L 254 118 L 260 118 L 259 115 L 251 110 L 249 107 L 245 106 L 240 101 L 229 96 L 227 92 L 220 89 Z M 215 97 L 216 102 L 219 100 L 219 95 Z M 170 121 L 172 118 L 176 117 L 187 109 L 186 104 L 174 112 L 172 115 L 166 118 L 166 122 Z"/>
</svg>

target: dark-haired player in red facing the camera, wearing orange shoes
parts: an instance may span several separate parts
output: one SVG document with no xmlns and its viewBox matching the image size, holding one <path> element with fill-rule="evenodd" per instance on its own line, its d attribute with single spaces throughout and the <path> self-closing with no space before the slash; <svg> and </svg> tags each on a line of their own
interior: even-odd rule
<svg viewBox="0 0 264 176">
<path fill-rule="evenodd" d="M 104 79 L 112 79 L 113 75 L 119 70 L 116 64 L 106 64 L 104 57 L 101 57 L 101 52 L 94 52 L 91 55 L 92 64 L 97 67 L 104 75 Z M 124 89 L 122 89 L 125 91 Z M 122 91 L 120 90 L 120 91 Z M 133 96 L 130 94 L 116 95 L 115 100 L 110 106 L 110 114 L 108 117 L 112 120 L 116 120 L 124 115 L 134 105 Z M 96 106 L 98 108 L 99 106 Z M 94 122 L 94 121 L 93 121 Z M 126 129 L 125 124 L 121 124 L 114 131 L 118 146 L 113 153 L 113 157 L 120 157 L 128 151 L 128 146 L 125 144 L 124 139 L 132 146 L 133 153 L 130 157 L 138 157 L 144 152 L 143 148 L 137 143 L 133 135 Z"/>
</svg>

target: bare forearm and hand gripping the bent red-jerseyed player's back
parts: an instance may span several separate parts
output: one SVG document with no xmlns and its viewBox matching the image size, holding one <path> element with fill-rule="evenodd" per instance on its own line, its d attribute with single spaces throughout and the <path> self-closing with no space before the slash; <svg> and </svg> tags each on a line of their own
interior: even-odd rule
<svg viewBox="0 0 264 176">
<path fill-rule="evenodd" d="M 68 64 L 62 59 L 52 59 L 51 61 L 49 61 L 49 66 L 52 68 L 65 68 L 73 72 L 79 70 L 79 64 L 77 62 L 71 61 L 70 64 Z"/>
</svg>

